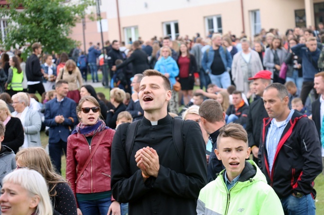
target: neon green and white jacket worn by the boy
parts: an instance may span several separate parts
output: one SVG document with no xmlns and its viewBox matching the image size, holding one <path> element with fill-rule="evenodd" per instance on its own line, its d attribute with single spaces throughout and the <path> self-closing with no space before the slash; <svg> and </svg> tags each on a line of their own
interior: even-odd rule
<svg viewBox="0 0 324 215">
<path fill-rule="evenodd" d="M 198 215 L 284 215 L 275 191 L 252 160 L 245 162 L 239 181 L 227 190 L 225 170 L 201 189 Z"/>
</svg>

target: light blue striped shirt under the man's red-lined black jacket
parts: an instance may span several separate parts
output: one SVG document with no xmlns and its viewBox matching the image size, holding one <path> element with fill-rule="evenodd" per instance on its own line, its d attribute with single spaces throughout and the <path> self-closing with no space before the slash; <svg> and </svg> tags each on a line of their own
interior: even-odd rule
<svg viewBox="0 0 324 215">
<path fill-rule="evenodd" d="M 285 121 L 277 122 L 276 119 L 273 119 L 269 126 L 269 131 L 266 140 L 266 148 L 268 152 L 268 163 L 269 163 L 270 175 L 271 175 L 273 161 L 275 159 L 278 143 L 280 141 L 280 138 L 284 132 L 286 125 L 291 120 L 294 112 L 295 110 L 290 110 L 290 114 L 288 115 Z"/>
</svg>

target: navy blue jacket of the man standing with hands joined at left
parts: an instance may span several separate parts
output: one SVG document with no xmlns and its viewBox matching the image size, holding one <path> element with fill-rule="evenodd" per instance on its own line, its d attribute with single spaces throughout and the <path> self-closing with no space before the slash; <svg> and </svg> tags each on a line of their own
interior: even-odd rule
<svg viewBox="0 0 324 215">
<path fill-rule="evenodd" d="M 77 124 L 76 103 L 72 99 L 65 97 L 63 101 L 58 102 L 56 97 L 45 104 L 45 126 L 49 127 L 48 143 L 58 143 L 60 140 L 67 142 L 74 125 Z M 57 124 L 55 117 L 64 116 L 64 122 Z"/>
</svg>

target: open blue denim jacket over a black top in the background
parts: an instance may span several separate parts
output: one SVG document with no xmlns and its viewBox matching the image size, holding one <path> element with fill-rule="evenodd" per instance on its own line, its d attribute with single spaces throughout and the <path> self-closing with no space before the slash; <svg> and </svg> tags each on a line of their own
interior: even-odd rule
<svg viewBox="0 0 324 215">
<path fill-rule="evenodd" d="M 231 54 L 223 47 L 219 47 L 219 55 L 222 58 L 224 67 L 226 68 L 226 71 L 224 72 L 229 72 L 231 70 L 232 67 L 232 57 Z M 212 47 L 210 47 L 210 49 L 207 49 L 203 56 L 202 56 L 202 61 L 201 61 L 201 66 L 204 69 L 204 71 L 206 73 L 211 73 L 211 65 L 214 61 L 214 50 Z"/>
</svg>

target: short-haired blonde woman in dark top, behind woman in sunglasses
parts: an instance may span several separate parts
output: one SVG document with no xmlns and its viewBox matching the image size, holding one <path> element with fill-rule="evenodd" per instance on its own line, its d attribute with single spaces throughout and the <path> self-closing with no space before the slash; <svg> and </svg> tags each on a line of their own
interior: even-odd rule
<svg viewBox="0 0 324 215">
<path fill-rule="evenodd" d="M 107 113 L 106 125 L 111 129 L 116 128 L 118 114 L 126 110 L 126 106 L 123 103 L 125 97 L 125 91 L 120 88 L 114 88 L 110 91 L 110 102 L 114 105 L 114 108 L 110 109 Z"/>
</svg>

